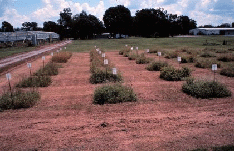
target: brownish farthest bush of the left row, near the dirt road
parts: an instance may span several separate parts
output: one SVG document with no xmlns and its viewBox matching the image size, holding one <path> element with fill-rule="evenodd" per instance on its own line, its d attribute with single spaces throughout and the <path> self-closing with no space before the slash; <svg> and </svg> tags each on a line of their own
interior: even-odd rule
<svg viewBox="0 0 234 151">
<path fill-rule="evenodd" d="M 52 62 L 66 63 L 67 60 L 71 58 L 71 56 L 72 56 L 71 52 L 62 51 L 62 52 L 55 54 L 52 57 Z"/>
</svg>

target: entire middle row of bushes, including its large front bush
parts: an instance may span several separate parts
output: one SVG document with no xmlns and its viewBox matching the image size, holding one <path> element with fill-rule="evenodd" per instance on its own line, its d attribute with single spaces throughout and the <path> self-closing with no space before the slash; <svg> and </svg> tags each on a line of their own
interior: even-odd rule
<svg viewBox="0 0 234 151">
<path fill-rule="evenodd" d="M 101 51 L 101 53 L 103 53 L 103 51 Z M 97 87 L 94 91 L 93 103 L 103 105 L 137 101 L 133 89 L 120 83 L 122 80 L 120 73 L 112 73 L 111 69 L 113 65 L 104 65 L 104 59 L 101 53 L 96 50 L 90 52 L 90 82 L 103 83 L 108 80 L 115 83 L 106 83 L 104 86 Z M 124 53 L 125 52 L 122 52 L 122 54 Z"/>
</svg>

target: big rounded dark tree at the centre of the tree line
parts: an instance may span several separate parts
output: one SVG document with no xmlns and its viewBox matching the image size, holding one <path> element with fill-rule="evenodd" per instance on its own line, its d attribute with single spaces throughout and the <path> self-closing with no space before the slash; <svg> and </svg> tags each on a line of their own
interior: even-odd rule
<svg viewBox="0 0 234 151">
<path fill-rule="evenodd" d="M 130 34 L 132 25 L 131 12 L 123 5 L 110 7 L 105 11 L 103 21 L 106 30 L 113 34 Z"/>
</svg>

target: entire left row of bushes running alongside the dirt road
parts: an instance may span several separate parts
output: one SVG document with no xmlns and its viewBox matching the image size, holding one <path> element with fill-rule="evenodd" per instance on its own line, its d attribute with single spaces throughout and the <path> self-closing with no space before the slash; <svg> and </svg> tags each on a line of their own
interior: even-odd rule
<svg viewBox="0 0 234 151">
<path fill-rule="evenodd" d="M 59 52 L 56 53 L 51 62 L 40 68 L 33 75 L 28 78 L 23 78 L 18 84 L 17 89 L 13 88 L 10 92 L 5 92 L 0 97 L 0 111 L 7 109 L 29 108 L 40 100 L 40 94 L 37 91 L 22 91 L 19 88 L 26 87 L 47 87 L 52 83 L 51 77 L 58 74 L 58 68 L 61 65 L 57 63 L 67 62 L 71 57 L 71 53 Z"/>
</svg>

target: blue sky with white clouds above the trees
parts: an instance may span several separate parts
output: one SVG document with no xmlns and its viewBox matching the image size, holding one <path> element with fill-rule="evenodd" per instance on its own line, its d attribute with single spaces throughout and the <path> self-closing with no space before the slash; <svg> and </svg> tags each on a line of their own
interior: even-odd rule
<svg viewBox="0 0 234 151">
<path fill-rule="evenodd" d="M 57 22 L 60 11 L 68 7 L 73 15 L 85 10 L 102 20 L 105 10 L 116 5 L 129 8 L 132 16 L 136 10 L 161 7 L 189 16 L 198 26 L 234 22 L 234 0 L 0 0 L 0 26 L 3 21 L 14 27 L 34 21 L 42 27 L 45 21 Z"/>
</svg>

